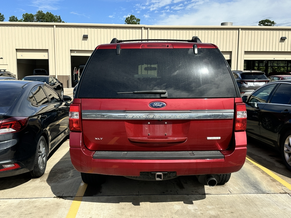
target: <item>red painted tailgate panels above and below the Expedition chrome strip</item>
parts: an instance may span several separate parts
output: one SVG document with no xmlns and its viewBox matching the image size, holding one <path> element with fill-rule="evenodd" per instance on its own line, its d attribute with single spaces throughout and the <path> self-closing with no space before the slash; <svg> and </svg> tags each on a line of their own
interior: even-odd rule
<svg viewBox="0 0 291 218">
<path fill-rule="evenodd" d="M 153 109 L 149 103 L 166 107 Z M 234 110 L 234 98 L 213 99 L 81 99 L 81 110 L 189 111 Z M 89 150 L 102 151 L 198 151 L 225 150 L 233 134 L 233 119 L 197 120 L 82 120 L 83 140 Z M 207 137 L 221 137 L 207 140 Z M 102 138 L 102 140 L 95 140 Z M 151 140 L 139 143 L 129 138 Z M 182 142 L 173 138 L 187 138 Z M 154 142 L 154 141 L 159 142 Z M 162 141 L 161 141 L 162 140 Z M 144 141 L 145 142 L 145 141 Z"/>
</svg>

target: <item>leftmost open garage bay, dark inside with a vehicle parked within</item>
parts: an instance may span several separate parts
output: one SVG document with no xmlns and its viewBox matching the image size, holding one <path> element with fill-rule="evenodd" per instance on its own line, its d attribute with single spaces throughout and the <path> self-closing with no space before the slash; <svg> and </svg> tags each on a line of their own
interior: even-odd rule
<svg viewBox="0 0 291 218">
<path fill-rule="evenodd" d="M 17 78 L 33 75 L 34 69 L 45 69 L 49 74 L 49 60 L 17 59 Z"/>
</svg>

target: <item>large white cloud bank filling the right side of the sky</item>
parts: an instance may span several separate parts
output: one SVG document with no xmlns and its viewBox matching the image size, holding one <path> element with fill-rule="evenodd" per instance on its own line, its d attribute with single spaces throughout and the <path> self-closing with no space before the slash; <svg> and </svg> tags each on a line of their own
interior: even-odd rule
<svg viewBox="0 0 291 218">
<path fill-rule="evenodd" d="M 233 25 L 257 26 L 263 19 L 273 20 L 276 25 L 291 25 L 289 0 L 281 0 L 280 4 L 273 0 L 229 0 L 222 3 L 218 0 L 193 0 L 189 3 L 189 10 L 160 17 L 156 25 L 220 25 L 233 22 Z"/>
</svg>

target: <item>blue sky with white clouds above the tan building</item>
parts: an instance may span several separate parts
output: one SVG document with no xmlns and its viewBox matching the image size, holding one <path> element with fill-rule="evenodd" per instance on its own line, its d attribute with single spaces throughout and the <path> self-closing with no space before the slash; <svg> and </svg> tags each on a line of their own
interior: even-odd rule
<svg viewBox="0 0 291 218">
<path fill-rule="evenodd" d="M 0 0 L 5 21 L 38 10 L 60 15 L 68 23 L 124 24 L 135 15 L 144 25 L 257 26 L 263 19 L 291 26 L 290 0 Z"/>
</svg>

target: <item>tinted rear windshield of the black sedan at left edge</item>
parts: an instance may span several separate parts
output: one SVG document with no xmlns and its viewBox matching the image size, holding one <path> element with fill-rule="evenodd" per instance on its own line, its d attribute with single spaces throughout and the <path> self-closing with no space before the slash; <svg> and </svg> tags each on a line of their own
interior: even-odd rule
<svg viewBox="0 0 291 218">
<path fill-rule="evenodd" d="M 0 87 L 0 107 L 10 107 L 21 91 L 22 88 Z"/>
</svg>

